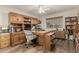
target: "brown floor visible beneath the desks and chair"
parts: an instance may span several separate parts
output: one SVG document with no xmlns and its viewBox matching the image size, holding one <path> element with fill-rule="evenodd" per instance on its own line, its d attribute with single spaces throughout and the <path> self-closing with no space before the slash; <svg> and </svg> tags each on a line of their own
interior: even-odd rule
<svg viewBox="0 0 79 59">
<path fill-rule="evenodd" d="M 69 43 L 68 43 L 69 42 Z M 73 41 L 58 41 L 56 47 L 51 53 L 74 53 Z M 24 44 L 17 45 L 14 47 L 8 47 L 0 49 L 0 53 L 44 53 L 42 46 L 29 46 L 26 48 Z M 47 52 L 50 53 L 50 52 Z"/>
</svg>

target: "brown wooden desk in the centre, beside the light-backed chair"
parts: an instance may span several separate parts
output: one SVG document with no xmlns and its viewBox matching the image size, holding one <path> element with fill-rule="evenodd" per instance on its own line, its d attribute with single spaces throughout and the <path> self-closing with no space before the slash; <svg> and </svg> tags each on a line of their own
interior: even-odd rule
<svg viewBox="0 0 79 59">
<path fill-rule="evenodd" d="M 43 46 L 45 51 L 50 51 L 51 50 L 51 31 L 38 31 L 38 32 L 33 32 L 33 34 L 38 36 L 38 41 L 39 44 Z"/>
</svg>

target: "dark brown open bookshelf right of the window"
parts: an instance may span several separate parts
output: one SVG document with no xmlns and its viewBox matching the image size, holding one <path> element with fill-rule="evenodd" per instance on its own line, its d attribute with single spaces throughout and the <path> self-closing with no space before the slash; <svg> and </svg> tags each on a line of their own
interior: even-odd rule
<svg viewBox="0 0 79 59">
<path fill-rule="evenodd" d="M 65 27 L 70 35 L 77 32 L 78 18 L 76 16 L 65 18 Z"/>
</svg>

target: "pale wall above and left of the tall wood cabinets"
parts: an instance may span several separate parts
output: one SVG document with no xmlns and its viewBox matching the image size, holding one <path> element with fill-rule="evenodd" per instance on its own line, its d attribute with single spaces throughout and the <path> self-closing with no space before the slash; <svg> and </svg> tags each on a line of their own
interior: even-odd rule
<svg viewBox="0 0 79 59">
<path fill-rule="evenodd" d="M 15 13 L 19 13 L 19 14 L 26 15 L 26 16 L 33 16 L 33 15 L 29 15 L 29 14 L 25 13 L 24 11 L 21 11 L 18 9 L 10 8 L 7 6 L 0 6 L 0 25 L 2 27 L 8 26 L 8 13 L 9 12 L 15 12 Z M 33 16 L 33 17 L 35 17 L 35 16 Z"/>
</svg>

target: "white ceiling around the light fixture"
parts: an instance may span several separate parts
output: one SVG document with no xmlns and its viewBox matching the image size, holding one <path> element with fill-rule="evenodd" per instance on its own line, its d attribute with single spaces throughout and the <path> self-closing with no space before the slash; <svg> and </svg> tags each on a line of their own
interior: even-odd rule
<svg viewBox="0 0 79 59">
<path fill-rule="evenodd" d="M 51 13 L 53 14 L 61 11 L 66 11 L 69 9 L 74 9 L 74 8 L 77 8 L 78 5 L 43 5 L 44 9 L 48 9 L 44 14 L 40 14 L 38 12 L 39 5 L 8 5 L 8 7 L 17 8 L 28 14 L 39 17 L 39 16 L 51 14 Z"/>
</svg>

